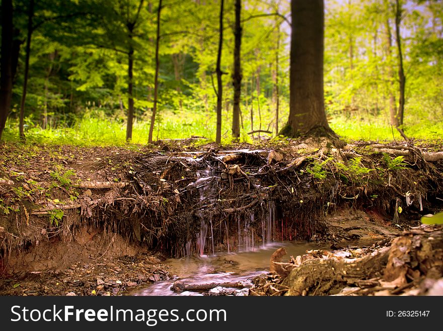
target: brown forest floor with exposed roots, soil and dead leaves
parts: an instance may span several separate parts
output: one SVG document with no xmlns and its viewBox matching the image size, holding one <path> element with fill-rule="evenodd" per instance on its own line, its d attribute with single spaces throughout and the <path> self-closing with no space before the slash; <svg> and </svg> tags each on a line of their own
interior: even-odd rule
<svg viewBox="0 0 443 331">
<path fill-rule="evenodd" d="M 170 278 L 167 257 L 198 254 L 198 245 L 187 244 L 203 216 L 214 220 L 219 235 L 212 240 L 222 251 L 227 241 L 242 244 L 228 232 L 237 217 L 255 215 L 250 226 L 260 231 L 271 209 L 273 236 L 328 243 L 331 251 L 276 261 L 288 274 L 256 279 L 252 294 L 351 287 L 345 291 L 353 295 L 399 295 L 441 283 L 441 227 L 423 228 L 419 220 L 443 209 L 443 142 L 193 143 L 0 147 L 0 295 L 124 294 Z M 355 272 L 360 263 L 371 272 Z M 341 273 L 325 272 L 334 269 Z M 289 286 L 294 270 L 325 276 Z"/>
</svg>

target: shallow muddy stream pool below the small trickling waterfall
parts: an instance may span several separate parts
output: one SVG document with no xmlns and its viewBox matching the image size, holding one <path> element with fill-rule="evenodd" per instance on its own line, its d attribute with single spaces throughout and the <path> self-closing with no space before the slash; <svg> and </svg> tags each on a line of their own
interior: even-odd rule
<svg viewBox="0 0 443 331">
<path fill-rule="evenodd" d="M 171 285 L 177 280 L 186 284 L 248 281 L 269 271 L 270 256 L 279 247 L 285 247 L 287 252 L 283 261 L 289 260 L 291 255 L 294 257 L 303 255 L 307 250 L 328 248 L 315 243 L 275 243 L 237 253 L 216 253 L 211 256 L 169 259 L 164 263 L 171 265 L 169 272 L 174 275 L 173 280 L 160 281 L 130 292 L 128 295 L 201 295 L 197 292 L 178 294 L 171 291 Z"/>
</svg>

